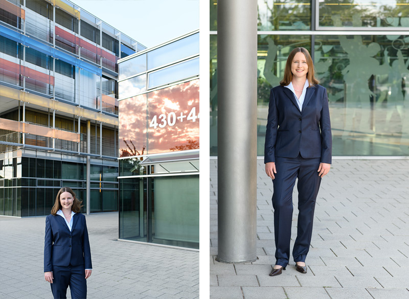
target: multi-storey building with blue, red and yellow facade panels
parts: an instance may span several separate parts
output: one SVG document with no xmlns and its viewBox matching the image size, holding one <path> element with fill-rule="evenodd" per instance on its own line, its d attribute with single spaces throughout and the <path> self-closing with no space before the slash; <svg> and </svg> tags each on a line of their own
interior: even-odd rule
<svg viewBox="0 0 409 299">
<path fill-rule="evenodd" d="M 86 156 L 89 212 L 118 211 L 117 62 L 144 49 L 68 0 L 0 1 L 0 215 L 48 215 L 63 186 L 85 212 Z"/>
</svg>

